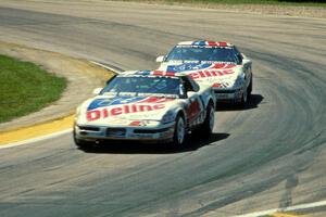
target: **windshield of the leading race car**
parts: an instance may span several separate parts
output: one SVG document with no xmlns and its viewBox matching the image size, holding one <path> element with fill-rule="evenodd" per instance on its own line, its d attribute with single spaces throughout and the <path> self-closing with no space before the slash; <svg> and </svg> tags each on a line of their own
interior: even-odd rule
<svg viewBox="0 0 326 217">
<path fill-rule="evenodd" d="M 135 94 L 179 95 L 180 82 L 177 77 L 150 76 L 122 76 L 115 77 L 101 92 L 101 94 Z"/>
</svg>

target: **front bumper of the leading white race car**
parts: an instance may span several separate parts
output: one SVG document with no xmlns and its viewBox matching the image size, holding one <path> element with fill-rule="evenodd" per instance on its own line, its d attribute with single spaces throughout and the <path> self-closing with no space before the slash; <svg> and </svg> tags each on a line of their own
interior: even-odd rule
<svg viewBox="0 0 326 217">
<path fill-rule="evenodd" d="M 98 140 L 134 140 L 134 141 L 171 141 L 174 135 L 174 123 L 160 127 L 110 127 L 110 126 L 74 126 L 76 139 Z"/>
</svg>

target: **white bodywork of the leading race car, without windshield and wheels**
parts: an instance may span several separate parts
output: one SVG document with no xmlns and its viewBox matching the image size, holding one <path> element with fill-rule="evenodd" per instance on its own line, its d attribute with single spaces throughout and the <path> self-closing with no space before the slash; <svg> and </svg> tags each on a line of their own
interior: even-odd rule
<svg viewBox="0 0 326 217">
<path fill-rule="evenodd" d="M 117 77 L 133 76 L 187 79 L 185 75 L 166 75 L 163 72 L 126 72 Z M 109 92 L 89 99 L 77 108 L 75 140 L 171 141 L 178 115 L 185 118 L 185 130 L 190 130 L 203 124 L 209 104 L 214 106 L 212 88 L 199 88 L 193 84 L 195 90 L 188 91 L 183 99 L 172 94 L 133 92 L 123 95 Z"/>
</svg>

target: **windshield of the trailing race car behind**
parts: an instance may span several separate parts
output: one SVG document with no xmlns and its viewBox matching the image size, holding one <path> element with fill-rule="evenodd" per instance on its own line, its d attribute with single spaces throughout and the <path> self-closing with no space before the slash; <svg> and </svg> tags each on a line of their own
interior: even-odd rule
<svg viewBox="0 0 326 217">
<path fill-rule="evenodd" d="M 214 61 L 236 62 L 233 48 L 220 47 L 175 47 L 165 61 Z"/>
</svg>

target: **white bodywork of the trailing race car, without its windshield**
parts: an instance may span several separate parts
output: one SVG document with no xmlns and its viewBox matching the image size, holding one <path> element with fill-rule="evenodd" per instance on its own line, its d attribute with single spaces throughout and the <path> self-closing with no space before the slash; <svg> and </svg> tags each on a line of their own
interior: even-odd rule
<svg viewBox="0 0 326 217">
<path fill-rule="evenodd" d="M 244 100 L 244 103 L 247 102 L 252 90 L 252 62 L 243 53 L 240 53 L 235 46 L 215 41 L 185 41 L 175 48 L 233 49 L 236 55 L 235 60 L 238 62 L 211 61 L 209 58 L 191 61 L 183 60 L 183 56 L 170 61 L 167 60 L 170 54 L 159 56 L 156 62 L 161 62 L 159 71 L 183 73 L 190 76 L 200 86 L 212 86 L 216 101 L 241 102 Z"/>
</svg>

